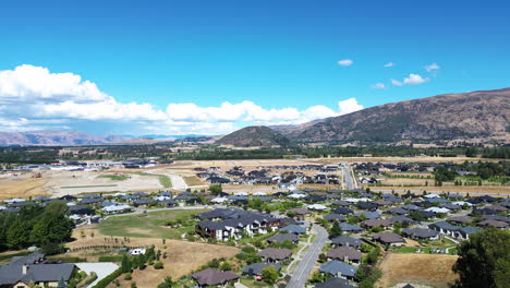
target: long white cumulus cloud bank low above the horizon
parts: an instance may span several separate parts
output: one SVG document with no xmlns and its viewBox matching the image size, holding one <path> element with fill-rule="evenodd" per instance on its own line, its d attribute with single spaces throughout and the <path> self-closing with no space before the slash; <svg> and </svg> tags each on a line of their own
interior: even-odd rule
<svg viewBox="0 0 510 288">
<path fill-rule="evenodd" d="M 75 129 L 80 122 L 82 127 L 129 127 L 125 134 L 221 134 L 250 124 L 298 124 L 360 109 L 363 106 L 350 98 L 339 101 L 338 110 L 323 105 L 266 109 L 247 100 L 217 107 L 170 103 L 161 110 L 149 103 L 119 101 L 73 73 L 51 73 L 34 65 L 0 71 L 0 130 L 8 131 Z"/>
</svg>

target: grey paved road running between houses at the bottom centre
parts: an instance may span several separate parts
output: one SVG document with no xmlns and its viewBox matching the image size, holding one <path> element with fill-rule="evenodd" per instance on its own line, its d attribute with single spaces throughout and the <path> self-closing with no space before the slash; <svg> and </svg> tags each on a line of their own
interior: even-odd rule
<svg viewBox="0 0 510 288">
<path fill-rule="evenodd" d="M 328 232 L 321 226 L 314 225 L 313 228 L 317 232 L 315 241 L 309 245 L 305 252 L 303 259 L 295 267 L 294 274 L 287 285 L 287 288 L 303 288 L 306 287 L 306 279 L 308 278 L 315 263 L 318 260 L 318 255 L 323 251 L 323 247 L 328 239 Z"/>
</svg>

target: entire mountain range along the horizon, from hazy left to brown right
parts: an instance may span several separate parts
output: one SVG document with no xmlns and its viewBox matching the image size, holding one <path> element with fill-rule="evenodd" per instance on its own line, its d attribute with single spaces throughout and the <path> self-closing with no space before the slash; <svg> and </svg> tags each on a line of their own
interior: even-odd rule
<svg viewBox="0 0 510 288">
<path fill-rule="evenodd" d="M 217 139 L 215 141 L 215 139 Z M 99 136 L 76 131 L 0 132 L 0 145 L 154 144 L 215 141 L 231 146 L 290 143 L 510 143 L 510 88 L 391 103 L 296 125 L 247 127 L 222 137 Z"/>
</svg>

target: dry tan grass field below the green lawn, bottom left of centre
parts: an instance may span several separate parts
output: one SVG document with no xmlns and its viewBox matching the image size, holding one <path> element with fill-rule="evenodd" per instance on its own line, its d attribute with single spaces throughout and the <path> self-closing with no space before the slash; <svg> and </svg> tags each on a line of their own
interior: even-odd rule
<svg viewBox="0 0 510 288">
<path fill-rule="evenodd" d="M 101 235 L 96 227 L 92 226 L 86 229 L 85 237 L 82 237 L 80 230 L 73 232 L 73 237 L 77 240 L 68 243 L 69 248 L 77 247 L 90 247 L 90 245 L 104 245 L 105 238 L 108 241 L 113 241 L 114 237 L 105 237 Z M 94 237 L 92 237 L 94 232 Z M 119 241 L 122 241 L 122 237 L 118 237 Z M 120 243 L 120 242 L 119 242 Z M 108 243 L 107 243 L 108 244 Z M 124 280 L 123 276 L 119 278 L 121 287 L 131 287 L 132 281 L 136 281 L 136 286 L 139 288 L 154 288 L 157 284 L 163 281 L 165 276 L 171 276 L 173 279 L 178 279 L 183 275 L 190 274 L 192 271 L 206 264 L 212 259 L 219 257 L 232 257 L 239 252 L 240 249 L 228 245 L 216 245 L 197 242 L 186 242 L 179 240 L 167 240 L 166 247 L 162 244 L 161 239 L 157 238 L 130 238 L 127 245 L 151 245 L 156 247 L 156 250 L 161 250 L 162 253 L 167 252 L 168 257 L 161 259 L 165 268 L 154 269 L 151 266 L 147 266 L 144 271 L 136 271 L 133 273 L 133 280 Z M 89 255 L 90 251 L 68 253 L 68 256 L 81 256 L 87 257 L 89 261 L 96 261 L 97 259 Z"/>
</svg>

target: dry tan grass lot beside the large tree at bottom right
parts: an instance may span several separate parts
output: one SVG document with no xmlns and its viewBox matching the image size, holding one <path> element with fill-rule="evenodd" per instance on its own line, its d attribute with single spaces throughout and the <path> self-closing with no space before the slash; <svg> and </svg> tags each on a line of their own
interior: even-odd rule
<svg viewBox="0 0 510 288">
<path fill-rule="evenodd" d="M 435 254 L 388 253 L 380 263 L 382 277 L 376 287 L 393 287 L 401 283 L 448 287 L 458 276 L 451 271 L 457 256 Z"/>
</svg>

